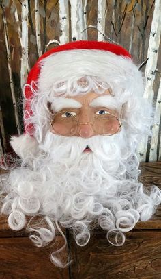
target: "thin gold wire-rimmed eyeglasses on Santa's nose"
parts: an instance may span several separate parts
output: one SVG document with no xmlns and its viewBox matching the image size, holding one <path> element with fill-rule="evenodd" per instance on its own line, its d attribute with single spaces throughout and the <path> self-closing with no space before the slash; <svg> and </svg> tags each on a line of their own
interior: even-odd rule
<svg viewBox="0 0 161 279">
<path fill-rule="evenodd" d="M 122 105 L 122 108 L 121 108 L 121 114 L 120 114 L 120 116 L 119 117 L 116 117 L 115 116 L 115 114 L 112 114 L 112 113 L 110 113 L 110 112 L 108 112 L 108 115 L 110 114 L 110 115 L 112 115 L 113 117 L 115 117 L 116 119 L 117 119 L 117 121 L 119 122 L 119 128 L 118 128 L 118 130 L 117 130 L 117 132 L 119 131 L 119 129 L 122 127 L 122 123 L 121 123 L 121 121 L 120 121 L 120 119 L 121 119 L 121 117 L 122 117 L 122 114 L 123 114 L 123 106 L 124 106 L 125 104 L 123 104 Z M 55 117 L 57 116 L 57 114 L 59 114 L 59 113 L 65 113 L 65 112 L 68 112 L 68 110 L 61 110 L 61 112 L 56 112 L 55 114 L 53 114 L 53 119 L 50 121 L 50 125 L 51 125 L 51 127 L 53 128 L 53 121 L 54 121 L 54 119 L 55 119 Z M 70 113 L 70 112 L 69 112 Z M 104 115 L 104 114 L 102 114 L 102 115 Z M 105 114 L 106 115 L 106 114 Z M 74 116 L 74 115 L 72 115 L 72 117 L 74 117 L 74 119 L 76 120 L 76 123 L 77 123 L 77 130 L 78 130 L 78 126 L 79 125 L 91 125 L 91 127 L 92 127 L 92 129 L 93 129 L 93 123 L 94 123 L 94 121 L 96 121 L 96 119 L 99 117 L 99 115 L 98 115 L 98 117 L 96 117 L 94 120 L 93 120 L 93 122 L 87 122 L 87 123 L 83 123 L 83 122 L 79 122 L 77 119 L 76 119 L 76 117 Z M 54 128 L 53 128 L 54 129 Z M 76 130 L 76 131 L 77 131 Z M 93 131 L 94 132 L 96 132 L 94 129 L 93 129 Z M 117 132 L 115 132 L 114 134 L 117 134 Z M 97 134 L 99 134 L 98 132 L 96 132 Z M 113 136 L 114 134 L 99 134 L 100 136 Z M 63 136 L 62 134 L 60 134 L 61 136 Z M 74 134 L 73 134 L 74 135 Z"/>
</svg>

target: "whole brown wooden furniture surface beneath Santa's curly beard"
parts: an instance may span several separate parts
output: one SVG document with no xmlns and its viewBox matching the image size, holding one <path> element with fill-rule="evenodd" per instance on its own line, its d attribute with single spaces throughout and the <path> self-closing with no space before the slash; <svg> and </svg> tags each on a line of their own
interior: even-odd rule
<svg viewBox="0 0 161 279">
<path fill-rule="evenodd" d="M 161 162 L 143 163 L 141 181 L 161 187 Z M 72 265 L 59 269 L 50 263 L 52 247 L 33 246 L 25 231 L 13 232 L 5 217 L 0 219 L 0 279 L 160 279 L 161 207 L 153 219 L 139 222 L 126 233 L 126 243 L 114 247 L 106 232 L 94 231 L 85 247 L 78 247 L 66 231 Z M 59 245 L 63 239 L 58 236 Z"/>
</svg>

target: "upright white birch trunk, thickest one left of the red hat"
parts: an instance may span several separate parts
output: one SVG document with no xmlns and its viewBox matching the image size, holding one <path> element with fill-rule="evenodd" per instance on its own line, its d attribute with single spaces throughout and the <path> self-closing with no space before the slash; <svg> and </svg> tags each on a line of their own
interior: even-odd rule
<svg viewBox="0 0 161 279">
<path fill-rule="evenodd" d="M 29 71 L 28 64 L 28 1 L 22 2 L 21 21 L 22 21 L 22 58 L 20 65 L 20 86 L 23 86 L 27 81 L 27 73 Z"/>
</svg>

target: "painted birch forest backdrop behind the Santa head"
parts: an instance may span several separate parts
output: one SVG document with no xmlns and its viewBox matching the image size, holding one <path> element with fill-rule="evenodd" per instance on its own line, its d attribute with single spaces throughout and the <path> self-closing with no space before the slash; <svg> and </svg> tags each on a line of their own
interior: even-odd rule
<svg viewBox="0 0 161 279">
<path fill-rule="evenodd" d="M 138 154 L 141 161 L 161 160 L 161 0 L 3 0 L 0 5 L 0 153 L 10 151 L 11 134 L 23 133 L 22 90 L 38 57 L 72 40 L 104 40 L 122 45 L 142 64 L 144 95 L 157 117 Z"/>
</svg>

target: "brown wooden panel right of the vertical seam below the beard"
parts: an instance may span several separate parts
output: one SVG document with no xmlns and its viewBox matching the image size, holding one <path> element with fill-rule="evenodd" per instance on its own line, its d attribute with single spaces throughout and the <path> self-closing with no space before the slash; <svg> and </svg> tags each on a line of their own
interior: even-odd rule
<svg viewBox="0 0 161 279">
<path fill-rule="evenodd" d="M 70 233 L 70 252 L 71 279 L 161 278 L 161 231 L 129 232 L 122 247 L 108 243 L 103 232 L 78 247 Z"/>
</svg>

